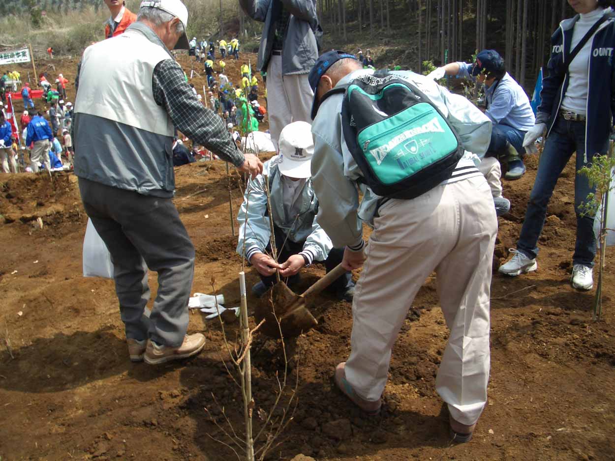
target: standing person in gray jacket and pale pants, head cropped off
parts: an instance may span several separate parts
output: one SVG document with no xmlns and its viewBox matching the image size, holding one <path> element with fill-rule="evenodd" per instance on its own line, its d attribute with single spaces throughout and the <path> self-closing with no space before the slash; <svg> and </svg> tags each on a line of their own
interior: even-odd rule
<svg viewBox="0 0 615 461">
<path fill-rule="evenodd" d="M 311 122 L 314 93 L 308 73 L 318 58 L 321 33 L 316 0 L 239 0 L 252 19 L 264 22 L 258 69 L 267 73 L 269 132 L 278 148 L 282 128 Z"/>
</svg>

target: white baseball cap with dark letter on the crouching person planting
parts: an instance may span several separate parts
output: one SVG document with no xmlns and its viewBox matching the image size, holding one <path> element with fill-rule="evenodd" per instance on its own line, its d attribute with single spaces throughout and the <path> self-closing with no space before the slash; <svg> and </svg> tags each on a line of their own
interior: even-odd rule
<svg viewBox="0 0 615 461">
<path fill-rule="evenodd" d="M 279 140 L 280 173 L 289 178 L 310 178 L 311 164 L 314 156 L 312 125 L 308 122 L 293 122 L 286 125 L 280 133 Z"/>
</svg>

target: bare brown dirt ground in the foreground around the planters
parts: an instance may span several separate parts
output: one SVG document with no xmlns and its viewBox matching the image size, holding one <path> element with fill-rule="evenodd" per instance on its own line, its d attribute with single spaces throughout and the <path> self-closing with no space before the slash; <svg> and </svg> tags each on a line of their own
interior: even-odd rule
<svg viewBox="0 0 615 461">
<path fill-rule="evenodd" d="M 494 266 L 507 258 L 520 230 L 536 158 L 527 163 L 522 179 L 504 184 L 512 209 L 499 218 Z M 175 203 L 197 253 L 193 291 L 212 293 L 213 278 L 227 305 L 239 305 L 241 260 L 231 235 L 224 164 L 176 170 Z M 450 444 L 448 416 L 434 390 L 448 331 L 430 277 L 408 305 L 377 419 L 360 414 L 331 385 L 333 368 L 349 353 L 351 304 L 328 294 L 310 302 L 319 326 L 294 345 L 299 361 L 290 360 L 280 408 L 296 388 L 296 411 L 268 459 L 300 453 L 336 461 L 615 459 L 615 259 L 609 256 L 605 274 L 605 315 L 593 323 L 594 292 L 569 285 L 573 183 L 569 165 L 549 206 L 539 270 L 493 276 L 489 401 L 470 443 Z M 236 213 L 237 177 L 231 193 Z M 232 440 L 212 422 L 228 430 L 228 418 L 242 431 L 240 390 L 225 369 L 220 323 L 192 313 L 189 332 L 204 333 L 207 345 L 191 360 L 130 363 L 113 282 L 82 277 L 87 217 L 76 178 L 0 175 L 0 214 L 0 459 L 235 459 Z M 306 270 L 298 290 L 323 273 L 319 266 Z M 256 280 L 248 268 L 248 287 Z M 248 295 L 248 305 L 254 304 Z M 234 341 L 236 324 L 225 329 Z M 252 361 L 259 430 L 284 360 L 279 344 L 256 334 Z"/>
</svg>

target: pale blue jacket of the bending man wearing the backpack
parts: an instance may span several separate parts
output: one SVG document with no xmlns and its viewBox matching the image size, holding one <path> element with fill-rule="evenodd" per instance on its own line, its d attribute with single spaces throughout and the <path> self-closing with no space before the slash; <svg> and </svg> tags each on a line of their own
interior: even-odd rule
<svg viewBox="0 0 615 461">
<path fill-rule="evenodd" d="M 356 77 L 373 74 L 362 69 L 343 77 L 337 85 L 344 85 Z M 395 71 L 421 90 L 440 109 L 455 129 L 465 154 L 458 168 L 473 170 L 478 158 L 485 156 L 491 141 L 492 122 L 474 104 L 461 95 L 454 95 L 426 76 L 409 71 Z M 336 248 L 362 245 L 363 223 L 373 224 L 381 199 L 369 187 L 359 184 L 362 172 L 346 147 L 342 130 L 343 94 L 333 95 L 320 105 L 312 123 L 314 157 L 312 158 L 312 184 L 319 199 L 318 222 L 326 230 Z M 478 157 L 478 158 L 477 158 Z M 363 200 L 359 203 L 359 187 Z"/>
</svg>

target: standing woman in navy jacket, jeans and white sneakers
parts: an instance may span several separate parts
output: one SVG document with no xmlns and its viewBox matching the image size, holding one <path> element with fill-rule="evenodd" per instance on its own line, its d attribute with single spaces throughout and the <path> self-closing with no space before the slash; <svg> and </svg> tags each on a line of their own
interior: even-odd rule
<svg viewBox="0 0 615 461">
<path fill-rule="evenodd" d="M 577 12 L 564 20 L 551 37 L 551 58 L 542 82 L 542 104 L 536 114 L 536 125 L 523 140 L 530 151 L 538 137 L 547 130 L 544 151 L 538 165 L 536 181 L 530 194 L 525 221 L 514 256 L 499 268 L 506 275 L 519 275 L 536 270 L 538 238 L 547 212 L 549 199 L 561 171 L 573 152 L 576 154 L 574 210 L 577 216 L 576 246 L 571 282 L 577 290 L 593 286 L 592 268 L 596 253 L 593 218 L 581 216 L 579 205 L 595 192 L 585 176 L 578 171 L 605 155 L 615 114 L 615 81 L 613 59 L 615 50 L 615 14 L 611 0 L 568 0 Z M 573 60 L 571 52 L 586 34 L 592 33 Z"/>
</svg>

